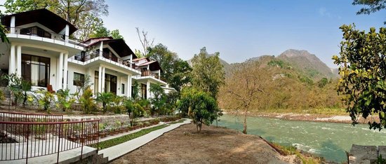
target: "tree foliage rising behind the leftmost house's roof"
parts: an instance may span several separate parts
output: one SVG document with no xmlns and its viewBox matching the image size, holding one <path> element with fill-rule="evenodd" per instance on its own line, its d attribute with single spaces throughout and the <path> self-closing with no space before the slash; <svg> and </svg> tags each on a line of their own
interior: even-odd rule
<svg viewBox="0 0 386 164">
<path fill-rule="evenodd" d="M 21 13 L 40 8 L 58 14 L 75 27 L 74 34 L 79 39 L 86 40 L 89 34 L 101 25 L 102 16 L 109 14 L 105 0 L 7 0 L 4 3 L 6 13 Z"/>
</svg>

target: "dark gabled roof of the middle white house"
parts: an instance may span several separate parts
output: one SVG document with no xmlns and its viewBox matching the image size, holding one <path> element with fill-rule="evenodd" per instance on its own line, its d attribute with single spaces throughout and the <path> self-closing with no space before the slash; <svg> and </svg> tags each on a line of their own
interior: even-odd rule
<svg viewBox="0 0 386 164">
<path fill-rule="evenodd" d="M 100 38 L 91 38 L 91 39 L 87 39 L 87 41 L 91 41 L 93 39 L 99 39 L 99 40 L 89 44 L 86 47 L 91 47 L 96 43 L 100 43 L 100 41 L 103 41 L 104 45 L 105 44 L 109 45 L 115 52 L 118 53 L 120 57 L 133 55 L 133 59 L 137 58 L 133 50 L 131 50 L 131 48 L 127 46 L 124 39 L 113 39 L 112 36 L 108 36 L 108 37 L 100 37 Z M 86 43 L 87 41 L 84 41 L 83 43 Z"/>
</svg>

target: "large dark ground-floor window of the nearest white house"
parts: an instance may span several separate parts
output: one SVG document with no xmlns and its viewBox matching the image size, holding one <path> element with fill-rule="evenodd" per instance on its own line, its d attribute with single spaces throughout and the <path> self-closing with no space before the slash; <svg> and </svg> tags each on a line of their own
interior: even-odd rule
<svg viewBox="0 0 386 164">
<path fill-rule="evenodd" d="M 47 87 L 50 81 L 50 58 L 22 54 L 22 78 L 32 86 Z"/>
</svg>

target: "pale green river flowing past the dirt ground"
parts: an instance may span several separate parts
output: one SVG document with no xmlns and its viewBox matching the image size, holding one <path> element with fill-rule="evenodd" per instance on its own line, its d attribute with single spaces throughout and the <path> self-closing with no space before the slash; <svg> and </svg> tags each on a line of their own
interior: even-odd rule
<svg viewBox="0 0 386 164">
<path fill-rule="evenodd" d="M 224 114 L 218 125 L 241 131 L 242 121 L 241 116 Z M 345 151 L 350 151 L 352 144 L 386 145 L 386 130 L 370 130 L 368 125 L 286 121 L 257 116 L 248 116 L 247 125 L 250 135 L 260 135 L 268 141 L 292 145 L 337 163 L 347 161 Z"/>
</svg>

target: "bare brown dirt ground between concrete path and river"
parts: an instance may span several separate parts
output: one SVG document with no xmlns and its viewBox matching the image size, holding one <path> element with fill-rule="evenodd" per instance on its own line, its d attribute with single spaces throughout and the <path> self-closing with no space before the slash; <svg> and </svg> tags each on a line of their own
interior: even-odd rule
<svg viewBox="0 0 386 164">
<path fill-rule="evenodd" d="M 182 125 L 112 163 L 294 163 L 263 139 L 237 130 Z"/>
</svg>

